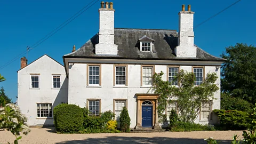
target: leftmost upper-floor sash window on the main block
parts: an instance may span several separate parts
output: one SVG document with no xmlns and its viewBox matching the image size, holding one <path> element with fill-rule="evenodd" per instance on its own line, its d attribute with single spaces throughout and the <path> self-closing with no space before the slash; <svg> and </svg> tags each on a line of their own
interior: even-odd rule
<svg viewBox="0 0 256 144">
<path fill-rule="evenodd" d="M 101 74 L 101 65 L 88 65 L 87 67 L 87 85 L 101 85 L 100 74 Z"/>
</svg>

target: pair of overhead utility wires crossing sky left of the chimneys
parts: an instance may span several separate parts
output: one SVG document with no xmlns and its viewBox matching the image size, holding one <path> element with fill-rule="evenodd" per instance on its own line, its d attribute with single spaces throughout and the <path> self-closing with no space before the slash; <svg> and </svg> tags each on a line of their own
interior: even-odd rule
<svg viewBox="0 0 256 144">
<path fill-rule="evenodd" d="M 66 20 L 65 22 L 63 22 L 60 26 L 58 26 L 57 28 L 55 28 L 54 30 L 52 30 L 49 34 L 47 34 L 46 36 L 44 36 L 42 39 L 40 39 L 39 41 L 37 41 L 35 44 L 33 44 L 31 47 L 31 49 L 29 49 L 29 51 L 35 49 L 38 45 L 42 44 L 44 41 L 46 41 L 48 38 L 50 38 L 52 35 L 56 34 L 59 30 L 61 30 L 63 27 L 67 26 L 71 21 L 75 20 L 79 15 L 81 15 L 82 13 L 84 13 L 86 10 L 88 10 L 90 7 L 92 7 L 95 3 L 97 3 L 99 0 L 97 1 L 91 1 L 89 4 L 87 4 L 86 6 L 84 6 L 81 10 L 79 10 L 77 13 L 75 13 L 72 17 L 70 17 L 68 20 Z M 93 3 L 94 2 L 94 3 Z M 92 4 L 93 3 L 93 4 Z M 92 5 L 90 5 L 92 4 Z M 90 5 L 90 6 L 89 6 Z M 89 7 L 87 7 L 89 6 Z M 87 9 L 85 9 L 87 7 Z M 84 10 L 85 9 L 85 10 Z M 81 12 L 82 11 L 82 12 Z M 81 13 L 79 13 L 81 12 Z M 78 14 L 79 13 L 79 14 Z M 78 15 L 77 15 L 78 14 Z M 71 19 L 71 20 L 70 20 Z M 69 21 L 70 20 L 70 21 Z M 65 24 L 66 23 L 66 24 Z M 55 31 L 55 32 L 54 32 Z M 53 33 L 54 32 L 54 33 Z M 34 47 L 33 47 L 34 46 Z M 10 60 L 9 62 L 5 63 L 3 66 L 0 67 L 0 69 L 5 68 L 6 66 L 10 65 L 12 62 L 14 62 L 15 60 L 19 59 L 21 57 L 21 55 L 26 54 L 27 50 L 20 53 L 19 55 L 17 55 L 17 57 L 14 57 L 12 60 Z"/>
</svg>

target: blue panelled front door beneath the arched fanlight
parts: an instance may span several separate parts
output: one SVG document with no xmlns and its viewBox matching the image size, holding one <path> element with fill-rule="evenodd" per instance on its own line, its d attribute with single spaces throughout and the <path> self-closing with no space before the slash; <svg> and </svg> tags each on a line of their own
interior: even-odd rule
<svg viewBox="0 0 256 144">
<path fill-rule="evenodd" d="M 152 126 L 152 106 L 142 106 L 142 126 Z"/>
</svg>

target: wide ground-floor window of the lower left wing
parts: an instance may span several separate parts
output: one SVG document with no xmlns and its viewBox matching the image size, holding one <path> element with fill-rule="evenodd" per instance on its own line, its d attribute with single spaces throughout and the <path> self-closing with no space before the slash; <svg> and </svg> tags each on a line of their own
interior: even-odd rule
<svg viewBox="0 0 256 144">
<path fill-rule="evenodd" d="M 37 103 L 37 117 L 52 117 L 52 103 Z"/>
</svg>

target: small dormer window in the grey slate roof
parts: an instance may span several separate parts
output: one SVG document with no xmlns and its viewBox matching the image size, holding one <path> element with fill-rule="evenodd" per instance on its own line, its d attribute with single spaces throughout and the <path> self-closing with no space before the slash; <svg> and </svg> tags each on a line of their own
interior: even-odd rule
<svg viewBox="0 0 256 144">
<path fill-rule="evenodd" d="M 141 52 L 152 52 L 153 42 L 155 40 L 147 37 L 146 35 L 139 39 L 140 51 Z"/>
</svg>

